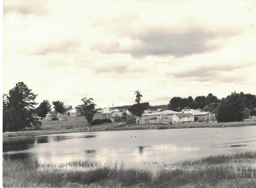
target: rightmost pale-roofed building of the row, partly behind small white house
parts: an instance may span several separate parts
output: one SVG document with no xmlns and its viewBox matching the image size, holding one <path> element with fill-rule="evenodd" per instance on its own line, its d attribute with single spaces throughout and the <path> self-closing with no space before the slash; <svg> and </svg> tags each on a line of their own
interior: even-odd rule
<svg viewBox="0 0 256 188">
<path fill-rule="evenodd" d="M 211 112 L 204 112 L 202 110 L 194 110 L 194 109 L 188 109 L 188 110 L 182 110 L 182 113 L 191 113 L 195 116 L 195 121 L 201 121 L 201 122 L 217 122 L 217 119 L 215 117 L 215 114 Z"/>
</svg>

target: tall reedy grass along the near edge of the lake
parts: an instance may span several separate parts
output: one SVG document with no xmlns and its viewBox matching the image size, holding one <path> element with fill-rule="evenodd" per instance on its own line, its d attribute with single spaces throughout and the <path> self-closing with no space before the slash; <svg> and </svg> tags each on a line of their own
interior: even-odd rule
<svg viewBox="0 0 256 188">
<path fill-rule="evenodd" d="M 256 151 L 217 155 L 148 170 L 75 161 L 83 170 L 51 170 L 36 161 L 3 161 L 4 187 L 255 187 Z M 81 166 L 82 165 L 82 166 Z"/>
</svg>

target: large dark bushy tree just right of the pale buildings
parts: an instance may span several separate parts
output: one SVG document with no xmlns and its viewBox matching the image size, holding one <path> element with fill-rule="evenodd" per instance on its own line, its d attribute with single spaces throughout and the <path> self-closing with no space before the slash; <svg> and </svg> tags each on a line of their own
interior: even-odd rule
<svg viewBox="0 0 256 188">
<path fill-rule="evenodd" d="M 251 101 L 243 92 L 232 92 L 231 95 L 221 100 L 216 118 L 221 122 L 241 121 L 244 118 L 245 107 L 251 109 Z"/>
</svg>

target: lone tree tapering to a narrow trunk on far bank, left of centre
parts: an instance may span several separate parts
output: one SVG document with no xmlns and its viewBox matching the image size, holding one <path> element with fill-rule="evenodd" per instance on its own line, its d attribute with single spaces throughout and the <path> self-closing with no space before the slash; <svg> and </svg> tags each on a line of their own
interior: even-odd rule
<svg viewBox="0 0 256 188">
<path fill-rule="evenodd" d="M 76 106 L 76 109 L 86 118 L 89 126 L 91 126 L 94 114 L 97 112 L 97 110 L 95 110 L 96 104 L 94 104 L 94 99 L 92 98 L 82 98 L 81 100 L 83 104 Z"/>
</svg>

